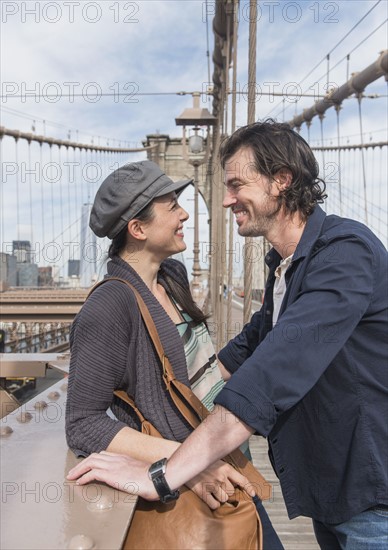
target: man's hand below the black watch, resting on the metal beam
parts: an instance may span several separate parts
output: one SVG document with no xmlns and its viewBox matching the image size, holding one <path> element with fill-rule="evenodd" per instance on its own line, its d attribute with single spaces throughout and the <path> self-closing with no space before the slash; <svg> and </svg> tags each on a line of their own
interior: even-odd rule
<svg viewBox="0 0 388 550">
<path fill-rule="evenodd" d="M 78 485 L 91 481 L 103 481 L 132 495 L 147 500 L 158 500 L 154 484 L 148 477 L 150 464 L 127 455 L 116 453 L 93 453 L 77 464 L 67 475 L 69 480 L 77 480 Z"/>
</svg>

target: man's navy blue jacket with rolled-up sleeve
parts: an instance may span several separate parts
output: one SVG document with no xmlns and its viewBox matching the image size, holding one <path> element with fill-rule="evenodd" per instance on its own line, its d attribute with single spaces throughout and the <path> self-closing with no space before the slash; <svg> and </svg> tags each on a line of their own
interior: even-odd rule
<svg viewBox="0 0 388 550">
<path fill-rule="evenodd" d="M 264 303 L 219 358 L 215 402 L 268 438 L 290 518 L 340 523 L 388 504 L 387 251 L 364 225 L 316 207 L 272 329 Z"/>
</svg>

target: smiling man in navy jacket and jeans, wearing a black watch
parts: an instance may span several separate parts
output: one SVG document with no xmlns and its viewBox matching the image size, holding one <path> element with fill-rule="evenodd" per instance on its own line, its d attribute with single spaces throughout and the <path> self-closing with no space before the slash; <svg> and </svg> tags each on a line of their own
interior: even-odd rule
<svg viewBox="0 0 388 550">
<path fill-rule="evenodd" d="M 269 277 L 263 307 L 219 354 L 232 376 L 214 412 L 159 481 L 173 492 L 260 434 L 289 517 L 313 518 L 322 548 L 386 548 L 387 252 L 364 225 L 321 210 L 316 160 L 287 124 L 240 128 L 220 154 L 223 206 L 240 235 L 272 244 Z M 130 478 L 155 499 L 148 467 L 103 454 L 70 478 Z"/>
</svg>

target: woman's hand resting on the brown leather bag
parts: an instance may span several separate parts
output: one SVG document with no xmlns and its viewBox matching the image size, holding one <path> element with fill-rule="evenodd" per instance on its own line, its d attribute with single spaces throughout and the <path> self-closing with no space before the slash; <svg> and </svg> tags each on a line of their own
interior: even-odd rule
<svg viewBox="0 0 388 550">
<path fill-rule="evenodd" d="M 245 489 L 250 496 L 255 496 L 248 479 L 222 460 L 217 460 L 186 485 L 212 510 L 226 502 L 236 486 Z"/>
</svg>

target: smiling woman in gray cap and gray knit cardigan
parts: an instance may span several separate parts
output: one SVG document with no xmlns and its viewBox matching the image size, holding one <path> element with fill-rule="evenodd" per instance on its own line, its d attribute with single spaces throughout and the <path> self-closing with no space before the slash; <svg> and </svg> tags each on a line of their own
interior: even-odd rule
<svg viewBox="0 0 388 550">
<path fill-rule="evenodd" d="M 112 239 L 107 277 L 125 279 L 140 293 L 176 378 L 211 409 L 223 379 L 206 317 L 192 300 L 184 266 L 168 259 L 186 248 L 188 214 L 176 193 L 189 183 L 173 182 L 150 161 L 127 164 L 101 185 L 90 227 Z M 70 343 L 69 447 L 78 456 L 108 451 L 151 463 L 171 456 L 191 427 L 166 395 L 158 356 L 127 285 L 112 280 L 92 292 L 73 323 Z M 164 439 L 141 433 L 115 390 L 132 396 Z M 204 482 L 214 489 L 204 494 Z M 211 508 L 225 502 L 235 485 L 244 487 L 247 479 L 222 461 L 188 484 Z"/>
</svg>

